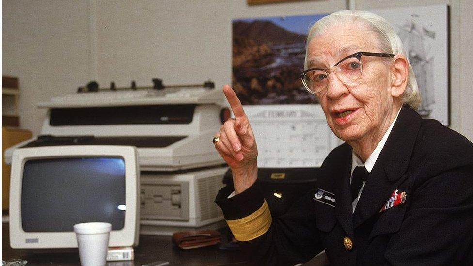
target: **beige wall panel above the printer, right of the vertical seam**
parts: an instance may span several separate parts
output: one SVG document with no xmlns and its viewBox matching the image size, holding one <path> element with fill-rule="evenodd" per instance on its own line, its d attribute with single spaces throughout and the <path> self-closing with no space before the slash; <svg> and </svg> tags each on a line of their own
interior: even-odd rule
<svg viewBox="0 0 473 266">
<path fill-rule="evenodd" d="M 182 84 L 211 78 L 217 87 L 231 82 L 232 19 L 329 13 L 346 5 L 345 0 L 250 7 L 246 0 L 110 3 L 96 7 L 100 82 L 149 84 L 159 77 L 165 84 Z"/>
</svg>

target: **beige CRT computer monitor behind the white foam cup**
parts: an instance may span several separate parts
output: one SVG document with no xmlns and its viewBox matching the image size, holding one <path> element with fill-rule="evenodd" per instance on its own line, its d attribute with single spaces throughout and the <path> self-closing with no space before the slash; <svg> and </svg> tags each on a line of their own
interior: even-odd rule
<svg viewBox="0 0 473 266">
<path fill-rule="evenodd" d="M 12 248 L 75 248 L 73 225 L 109 222 L 110 247 L 138 245 L 140 172 L 131 146 L 48 146 L 13 153 Z"/>
</svg>

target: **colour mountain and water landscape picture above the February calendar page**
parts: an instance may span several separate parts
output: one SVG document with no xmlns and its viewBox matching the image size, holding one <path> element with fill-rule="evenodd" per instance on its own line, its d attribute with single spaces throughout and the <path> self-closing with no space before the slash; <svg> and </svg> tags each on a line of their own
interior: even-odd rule
<svg viewBox="0 0 473 266">
<path fill-rule="evenodd" d="M 307 31 L 328 14 L 235 19 L 232 85 L 244 105 L 315 101 L 299 78 Z"/>
</svg>

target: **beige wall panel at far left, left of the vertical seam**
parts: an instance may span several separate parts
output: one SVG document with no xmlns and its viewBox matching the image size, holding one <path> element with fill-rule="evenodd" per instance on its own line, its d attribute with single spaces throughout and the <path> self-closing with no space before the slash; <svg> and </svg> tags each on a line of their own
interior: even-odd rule
<svg viewBox="0 0 473 266">
<path fill-rule="evenodd" d="M 39 133 L 36 103 L 74 92 L 88 81 L 86 1 L 2 1 L 2 75 L 19 78 L 23 128 Z"/>
</svg>

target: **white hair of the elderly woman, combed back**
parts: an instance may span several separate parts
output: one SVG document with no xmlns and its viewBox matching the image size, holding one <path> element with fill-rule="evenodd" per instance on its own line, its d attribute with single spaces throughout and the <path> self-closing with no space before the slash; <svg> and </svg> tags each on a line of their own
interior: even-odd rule
<svg viewBox="0 0 473 266">
<path fill-rule="evenodd" d="M 389 24 L 389 22 L 387 22 L 386 19 L 381 16 L 361 10 L 338 11 L 315 22 L 315 24 L 310 28 L 309 34 L 307 35 L 307 44 L 309 44 L 312 38 L 322 35 L 324 32 L 331 29 L 335 25 L 352 23 L 360 23 L 367 26 L 369 30 L 373 31 L 378 36 L 378 45 L 380 46 L 379 48 L 383 53 L 402 54 L 407 58 L 401 39 L 394 31 L 391 24 Z M 307 49 L 308 47 L 309 46 L 307 45 Z M 306 50 L 305 53 L 305 69 L 308 68 L 307 54 L 308 50 Z M 421 94 L 419 92 L 419 88 L 417 87 L 417 81 L 415 79 L 414 71 L 412 70 L 409 60 L 408 63 L 409 73 L 407 86 L 406 90 L 402 94 L 401 101 L 402 103 L 408 104 L 412 109 L 415 110 L 421 103 Z"/>
</svg>

